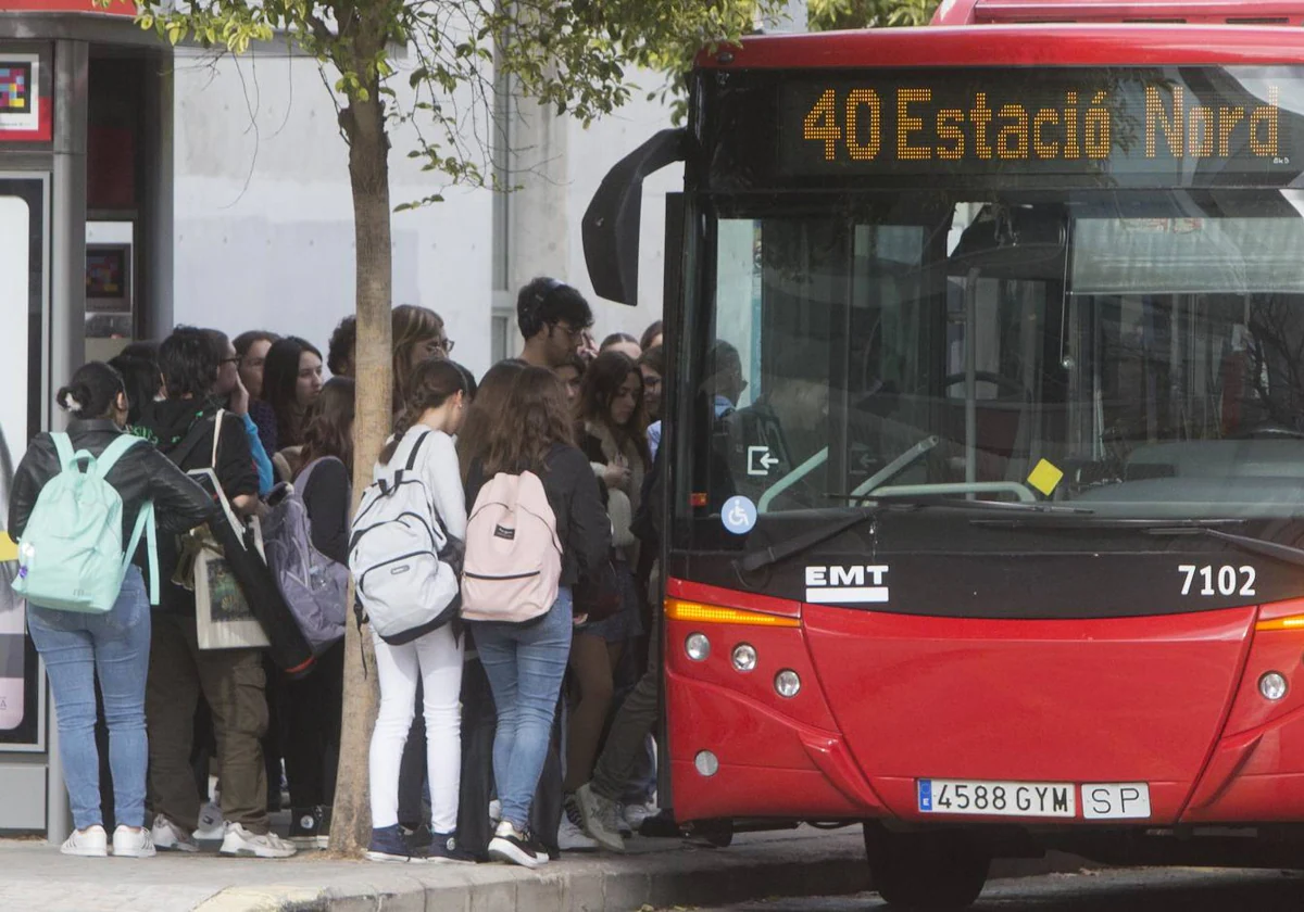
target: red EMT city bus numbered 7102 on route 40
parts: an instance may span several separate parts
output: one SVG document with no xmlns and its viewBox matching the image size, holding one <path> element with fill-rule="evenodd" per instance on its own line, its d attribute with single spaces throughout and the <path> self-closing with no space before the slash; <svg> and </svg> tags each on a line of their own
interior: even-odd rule
<svg viewBox="0 0 1304 912">
<path fill-rule="evenodd" d="M 1304 3 L 948 0 L 704 53 L 585 216 L 668 205 L 677 819 L 1297 866 Z"/>
</svg>

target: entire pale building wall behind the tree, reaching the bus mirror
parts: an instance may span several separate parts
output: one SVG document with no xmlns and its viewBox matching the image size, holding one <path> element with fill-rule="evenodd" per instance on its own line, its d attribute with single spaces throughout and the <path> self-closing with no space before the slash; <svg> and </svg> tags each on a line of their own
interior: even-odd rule
<svg viewBox="0 0 1304 912">
<path fill-rule="evenodd" d="M 219 61 L 179 52 L 172 85 L 175 322 L 301 335 L 325 353 L 353 309 L 355 270 L 348 150 L 317 64 L 283 52 Z M 407 79 L 395 86 L 406 91 Z M 589 296 L 600 337 L 636 336 L 661 310 L 664 197 L 682 172 L 669 168 L 645 186 L 636 310 L 592 297 L 580 218 L 606 169 L 669 125 L 665 108 L 640 98 L 584 130 L 527 107 L 511 119 L 511 182 L 523 189 L 498 218 L 489 190 L 450 189 L 445 202 L 393 221 L 394 302 L 437 310 L 454 357 L 477 373 L 490 363 L 494 305 L 507 317 L 507 350 L 516 350 L 506 307 L 535 275 Z M 413 147 L 402 130 L 394 135 L 395 205 L 441 190 L 407 158 Z M 496 251 L 506 261 L 498 270 Z"/>
</svg>

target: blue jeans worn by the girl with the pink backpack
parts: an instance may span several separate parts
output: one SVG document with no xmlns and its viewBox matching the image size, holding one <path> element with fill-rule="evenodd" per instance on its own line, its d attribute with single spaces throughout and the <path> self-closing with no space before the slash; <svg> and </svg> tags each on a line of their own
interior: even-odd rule
<svg viewBox="0 0 1304 912">
<path fill-rule="evenodd" d="M 570 659 L 571 591 L 561 589 L 546 615 L 531 624 L 475 624 L 476 649 L 489 677 L 498 728 L 493 775 L 502 818 L 524 830 L 548 757 L 553 714 Z"/>
</svg>

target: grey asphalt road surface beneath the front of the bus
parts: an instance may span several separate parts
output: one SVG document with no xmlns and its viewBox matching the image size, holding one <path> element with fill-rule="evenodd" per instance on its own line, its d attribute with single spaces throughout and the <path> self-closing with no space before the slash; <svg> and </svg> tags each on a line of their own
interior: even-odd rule
<svg viewBox="0 0 1304 912">
<path fill-rule="evenodd" d="M 773 899 L 702 912 L 866 912 L 887 909 L 876 894 Z M 1137 869 L 1051 874 L 987 885 L 974 912 L 1299 912 L 1304 876 L 1283 872 Z"/>
</svg>

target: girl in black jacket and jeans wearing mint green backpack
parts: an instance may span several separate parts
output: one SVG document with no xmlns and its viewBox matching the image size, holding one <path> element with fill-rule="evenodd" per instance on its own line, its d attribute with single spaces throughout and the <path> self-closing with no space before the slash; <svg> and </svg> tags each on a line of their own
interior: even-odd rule
<svg viewBox="0 0 1304 912">
<path fill-rule="evenodd" d="M 27 628 L 59 713 L 76 827 L 63 852 L 150 857 L 145 679 L 160 582 L 154 539 L 202 525 L 215 504 L 153 444 L 124 433 L 126 392 L 108 365 L 81 367 L 57 403 L 68 430 L 39 434 L 27 448 L 14 473 L 9 535 L 18 542 L 13 588 L 27 599 Z M 137 562 L 149 565 L 147 588 Z M 100 812 L 96 676 L 119 825 L 112 840 Z"/>
</svg>

